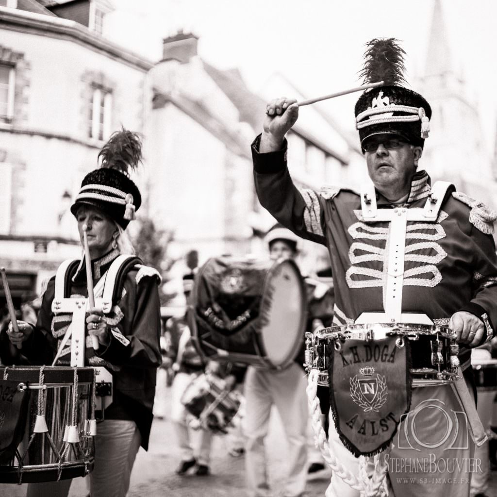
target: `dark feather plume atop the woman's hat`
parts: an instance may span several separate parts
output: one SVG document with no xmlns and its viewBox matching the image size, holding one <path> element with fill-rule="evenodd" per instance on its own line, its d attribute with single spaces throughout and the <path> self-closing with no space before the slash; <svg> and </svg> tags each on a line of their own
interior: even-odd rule
<svg viewBox="0 0 497 497">
<path fill-rule="evenodd" d="M 129 170 L 136 169 L 143 159 L 140 135 L 124 128 L 116 131 L 98 153 L 100 158 L 100 167 L 117 169 L 129 176 Z"/>
</svg>

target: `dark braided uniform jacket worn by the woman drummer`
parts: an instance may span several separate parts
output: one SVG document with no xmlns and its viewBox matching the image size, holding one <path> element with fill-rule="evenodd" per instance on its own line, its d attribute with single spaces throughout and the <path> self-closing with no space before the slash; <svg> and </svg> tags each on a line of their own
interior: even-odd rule
<svg viewBox="0 0 497 497">
<path fill-rule="evenodd" d="M 92 260 L 93 283 L 105 274 L 119 252 L 112 250 Z M 86 339 L 85 365 L 105 366 L 113 377 L 113 401 L 105 410 L 105 419 L 134 420 L 148 448 L 152 425 L 157 368 L 161 364 L 159 274 L 155 269 L 134 265 L 128 269 L 117 290 L 118 298 L 104 319 L 111 329 L 110 343 L 93 351 Z M 75 267 L 67 279 L 71 297 L 87 296 L 84 264 Z M 52 364 L 71 315 L 54 316 L 55 277 L 43 295 L 34 332 L 23 344 L 23 353 L 32 364 Z M 70 364 L 71 342 L 64 348 L 57 365 Z"/>
</svg>

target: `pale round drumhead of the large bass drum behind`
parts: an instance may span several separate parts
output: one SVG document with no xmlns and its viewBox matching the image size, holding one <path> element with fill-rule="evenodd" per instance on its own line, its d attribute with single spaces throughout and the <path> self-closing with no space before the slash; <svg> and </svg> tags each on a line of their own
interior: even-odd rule
<svg viewBox="0 0 497 497">
<path fill-rule="evenodd" d="M 265 355 L 273 366 L 289 364 L 303 347 L 306 307 L 297 265 L 290 259 L 278 260 L 264 284 L 259 329 Z"/>
</svg>

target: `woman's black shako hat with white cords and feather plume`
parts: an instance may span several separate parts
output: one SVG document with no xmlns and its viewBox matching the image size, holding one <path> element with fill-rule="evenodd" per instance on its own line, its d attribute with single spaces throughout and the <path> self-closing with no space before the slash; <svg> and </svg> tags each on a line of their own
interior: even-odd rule
<svg viewBox="0 0 497 497">
<path fill-rule="evenodd" d="M 71 212 L 76 216 L 81 205 L 91 205 L 126 229 L 142 203 L 140 191 L 129 177 L 129 171 L 142 160 L 138 134 L 124 128 L 116 131 L 98 153 L 100 158 L 101 167 L 84 176 Z"/>
</svg>

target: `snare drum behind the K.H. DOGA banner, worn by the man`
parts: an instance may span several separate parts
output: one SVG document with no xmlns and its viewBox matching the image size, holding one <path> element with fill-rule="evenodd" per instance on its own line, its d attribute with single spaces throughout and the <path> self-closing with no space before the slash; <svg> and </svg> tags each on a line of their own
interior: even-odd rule
<svg viewBox="0 0 497 497">
<path fill-rule="evenodd" d="M 318 384 L 328 386 L 329 357 L 333 347 L 345 340 L 363 340 L 365 357 L 358 360 L 367 361 L 376 356 L 381 360 L 382 350 L 375 340 L 389 336 L 396 336 L 399 346 L 409 340 L 413 386 L 439 385 L 457 379 L 459 346 L 455 343 L 455 333 L 444 326 L 403 323 L 332 326 L 316 335 L 306 333 L 306 368 L 318 369 Z"/>
</svg>

